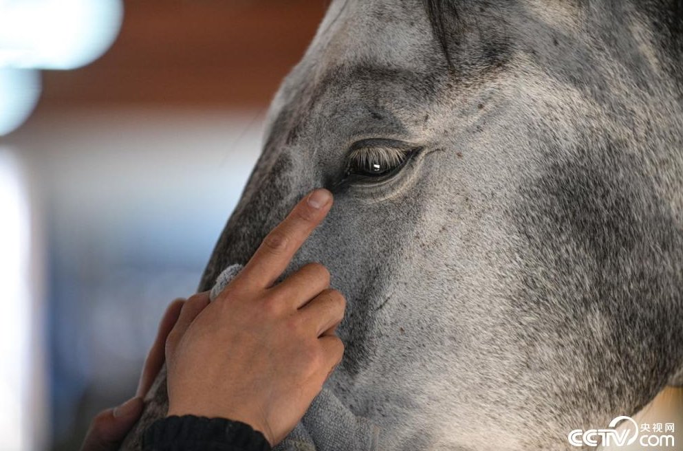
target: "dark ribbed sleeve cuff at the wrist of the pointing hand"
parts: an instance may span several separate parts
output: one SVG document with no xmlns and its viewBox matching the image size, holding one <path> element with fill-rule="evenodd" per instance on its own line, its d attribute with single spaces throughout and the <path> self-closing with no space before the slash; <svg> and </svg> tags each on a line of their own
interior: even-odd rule
<svg viewBox="0 0 683 451">
<path fill-rule="evenodd" d="M 224 418 L 166 417 L 144 431 L 143 451 L 270 451 L 261 432 Z"/>
</svg>

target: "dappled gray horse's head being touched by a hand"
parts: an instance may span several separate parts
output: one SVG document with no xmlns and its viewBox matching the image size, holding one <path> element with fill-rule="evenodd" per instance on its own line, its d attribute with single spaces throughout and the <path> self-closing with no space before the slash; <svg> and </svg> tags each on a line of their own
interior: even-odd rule
<svg viewBox="0 0 683 451">
<path fill-rule="evenodd" d="M 289 272 L 347 296 L 372 447 L 576 449 L 683 380 L 682 61 L 681 0 L 334 0 L 200 289 L 329 188 Z"/>
</svg>

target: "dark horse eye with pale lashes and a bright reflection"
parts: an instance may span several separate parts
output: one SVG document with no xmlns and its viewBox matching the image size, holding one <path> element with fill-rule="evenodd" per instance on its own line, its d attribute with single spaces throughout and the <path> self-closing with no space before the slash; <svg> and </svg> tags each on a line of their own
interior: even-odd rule
<svg viewBox="0 0 683 451">
<path fill-rule="evenodd" d="M 396 144 L 396 145 L 390 145 Z M 364 140 L 351 147 L 346 175 L 382 177 L 401 168 L 414 148 L 388 140 Z"/>
</svg>

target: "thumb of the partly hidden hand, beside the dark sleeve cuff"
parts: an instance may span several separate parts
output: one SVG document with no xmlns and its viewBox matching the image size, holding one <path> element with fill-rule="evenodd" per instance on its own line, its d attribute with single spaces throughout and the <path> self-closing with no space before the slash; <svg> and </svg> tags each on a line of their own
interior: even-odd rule
<svg viewBox="0 0 683 451">
<path fill-rule="evenodd" d="M 90 423 L 81 451 L 115 451 L 142 414 L 142 398 L 133 397 L 116 408 L 102 410 Z"/>
</svg>

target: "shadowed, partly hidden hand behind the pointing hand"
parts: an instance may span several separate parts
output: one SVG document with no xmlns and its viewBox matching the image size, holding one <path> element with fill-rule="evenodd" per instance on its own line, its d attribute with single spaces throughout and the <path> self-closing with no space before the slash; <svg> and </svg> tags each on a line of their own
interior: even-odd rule
<svg viewBox="0 0 683 451">
<path fill-rule="evenodd" d="M 166 313 L 159 323 L 157 336 L 147 354 L 147 359 L 144 361 L 135 396 L 116 408 L 102 410 L 94 417 L 87 434 L 85 434 L 81 451 L 118 450 L 121 441 L 138 421 L 142 415 L 142 398 L 149 391 L 164 364 L 166 337 L 173 329 L 183 303 L 183 299 L 177 299 L 166 309 Z"/>
</svg>

